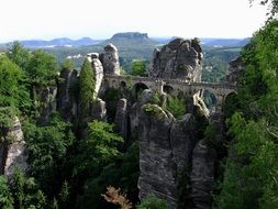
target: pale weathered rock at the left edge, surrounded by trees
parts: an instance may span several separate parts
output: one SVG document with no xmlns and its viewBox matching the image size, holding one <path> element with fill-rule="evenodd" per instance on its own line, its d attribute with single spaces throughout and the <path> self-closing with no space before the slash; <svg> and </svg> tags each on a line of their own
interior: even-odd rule
<svg viewBox="0 0 278 209">
<path fill-rule="evenodd" d="M 20 120 L 15 117 L 13 125 L 9 128 L 7 140 L 0 143 L 1 174 L 10 178 L 15 167 L 25 172 L 27 169 L 27 152 L 21 130 Z"/>
</svg>

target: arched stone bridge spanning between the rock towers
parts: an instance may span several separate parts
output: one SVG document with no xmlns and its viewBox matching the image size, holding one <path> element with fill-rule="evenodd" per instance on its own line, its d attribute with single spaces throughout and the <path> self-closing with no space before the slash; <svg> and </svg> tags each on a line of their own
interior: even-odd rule
<svg viewBox="0 0 278 209">
<path fill-rule="evenodd" d="M 236 92 L 236 86 L 231 84 L 189 82 L 181 79 L 105 75 L 104 81 L 111 88 L 131 88 L 135 91 L 138 89 L 152 89 L 173 96 L 180 92 L 185 96 L 193 96 L 196 94 L 201 96 L 203 90 L 208 90 L 215 96 L 216 109 L 222 109 L 227 95 Z"/>
</svg>

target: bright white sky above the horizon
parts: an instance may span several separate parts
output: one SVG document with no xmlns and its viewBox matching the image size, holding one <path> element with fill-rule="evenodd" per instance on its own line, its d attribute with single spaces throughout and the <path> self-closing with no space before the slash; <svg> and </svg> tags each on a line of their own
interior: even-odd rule
<svg viewBox="0 0 278 209">
<path fill-rule="evenodd" d="M 266 8 L 248 0 L 1 0 L 0 43 L 55 37 L 248 37 Z"/>
</svg>

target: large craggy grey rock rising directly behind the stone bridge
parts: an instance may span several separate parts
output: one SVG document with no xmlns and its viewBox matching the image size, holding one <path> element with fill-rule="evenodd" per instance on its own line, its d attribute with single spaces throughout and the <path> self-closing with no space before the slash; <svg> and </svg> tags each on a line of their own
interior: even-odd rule
<svg viewBox="0 0 278 209">
<path fill-rule="evenodd" d="M 198 38 L 175 38 L 160 51 L 155 48 L 149 76 L 199 82 L 202 75 L 202 57 Z"/>
</svg>

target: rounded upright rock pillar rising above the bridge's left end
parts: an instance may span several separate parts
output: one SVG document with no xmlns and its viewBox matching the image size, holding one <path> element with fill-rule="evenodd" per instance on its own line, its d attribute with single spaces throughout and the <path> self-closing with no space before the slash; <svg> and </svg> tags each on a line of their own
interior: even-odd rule
<svg viewBox="0 0 278 209">
<path fill-rule="evenodd" d="M 104 47 L 104 54 L 100 55 L 100 61 L 103 65 L 104 74 L 120 76 L 118 48 L 113 44 L 108 44 Z"/>
</svg>

